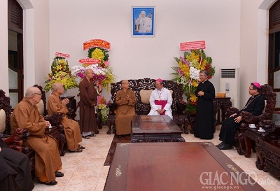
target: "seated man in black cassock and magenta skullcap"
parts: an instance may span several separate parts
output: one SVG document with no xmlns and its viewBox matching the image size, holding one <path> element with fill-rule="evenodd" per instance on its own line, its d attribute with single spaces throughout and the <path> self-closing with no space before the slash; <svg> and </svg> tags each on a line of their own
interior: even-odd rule
<svg viewBox="0 0 280 191">
<path fill-rule="evenodd" d="M 237 127 L 241 124 L 242 118 L 239 115 L 242 111 L 247 111 L 252 113 L 252 115 L 260 115 L 265 108 L 265 98 L 260 94 L 260 84 L 259 83 L 251 83 L 249 86 L 248 93 L 251 97 L 248 99 L 244 108 L 242 108 L 239 112 L 230 115 L 229 118 L 223 121 L 220 136 L 220 144 L 218 144 L 218 148 L 221 150 L 228 150 L 232 148 L 233 139 L 235 138 L 235 131 Z"/>
</svg>

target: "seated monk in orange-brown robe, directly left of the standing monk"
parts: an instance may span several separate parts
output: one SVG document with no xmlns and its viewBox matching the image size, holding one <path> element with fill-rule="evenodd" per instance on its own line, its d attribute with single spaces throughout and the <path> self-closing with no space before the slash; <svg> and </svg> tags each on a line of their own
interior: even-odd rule
<svg viewBox="0 0 280 191">
<path fill-rule="evenodd" d="M 63 113 L 62 125 L 64 127 L 64 133 L 66 136 L 67 148 L 71 153 L 80 153 L 85 147 L 80 146 L 79 143 L 82 141 L 80 135 L 80 126 L 75 120 L 71 120 L 67 117 L 68 109 L 66 104 L 69 103 L 69 99 L 61 99 L 60 96 L 64 94 L 64 87 L 62 83 L 53 83 L 52 94 L 48 98 L 48 115 L 54 113 Z"/>
</svg>

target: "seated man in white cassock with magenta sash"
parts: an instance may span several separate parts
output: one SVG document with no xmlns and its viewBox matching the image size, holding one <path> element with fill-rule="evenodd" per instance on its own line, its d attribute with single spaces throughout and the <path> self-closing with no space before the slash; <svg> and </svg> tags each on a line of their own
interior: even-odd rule
<svg viewBox="0 0 280 191">
<path fill-rule="evenodd" d="M 155 80 L 155 90 L 150 96 L 151 111 L 148 115 L 168 115 L 172 116 L 172 94 L 163 87 L 163 80 L 158 78 Z"/>
</svg>

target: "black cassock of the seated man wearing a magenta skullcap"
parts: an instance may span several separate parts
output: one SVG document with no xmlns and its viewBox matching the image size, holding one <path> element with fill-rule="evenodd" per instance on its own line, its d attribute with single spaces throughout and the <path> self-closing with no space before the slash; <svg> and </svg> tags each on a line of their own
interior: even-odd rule
<svg viewBox="0 0 280 191">
<path fill-rule="evenodd" d="M 224 143 L 232 145 L 233 140 L 235 138 L 235 131 L 237 127 L 244 121 L 236 123 L 235 118 L 239 116 L 239 113 L 242 111 L 247 111 L 252 113 L 252 115 L 260 115 L 265 108 L 265 98 L 262 94 L 255 95 L 254 97 L 250 97 L 246 103 L 246 106 L 237 112 L 237 115 L 227 118 L 223 121 L 221 132 L 219 134 L 220 141 Z"/>
</svg>

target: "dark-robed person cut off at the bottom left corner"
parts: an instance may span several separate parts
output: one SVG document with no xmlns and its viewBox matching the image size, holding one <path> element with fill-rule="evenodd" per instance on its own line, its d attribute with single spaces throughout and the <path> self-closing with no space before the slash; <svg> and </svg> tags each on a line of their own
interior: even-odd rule
<svg viewBox="0 0 280 191">
<path fill-rule="evenodd" d="M 8 148 L 0 139 L 1 191 L 29 191 L 34 188 L 27 155 Z"/>
</svg>

